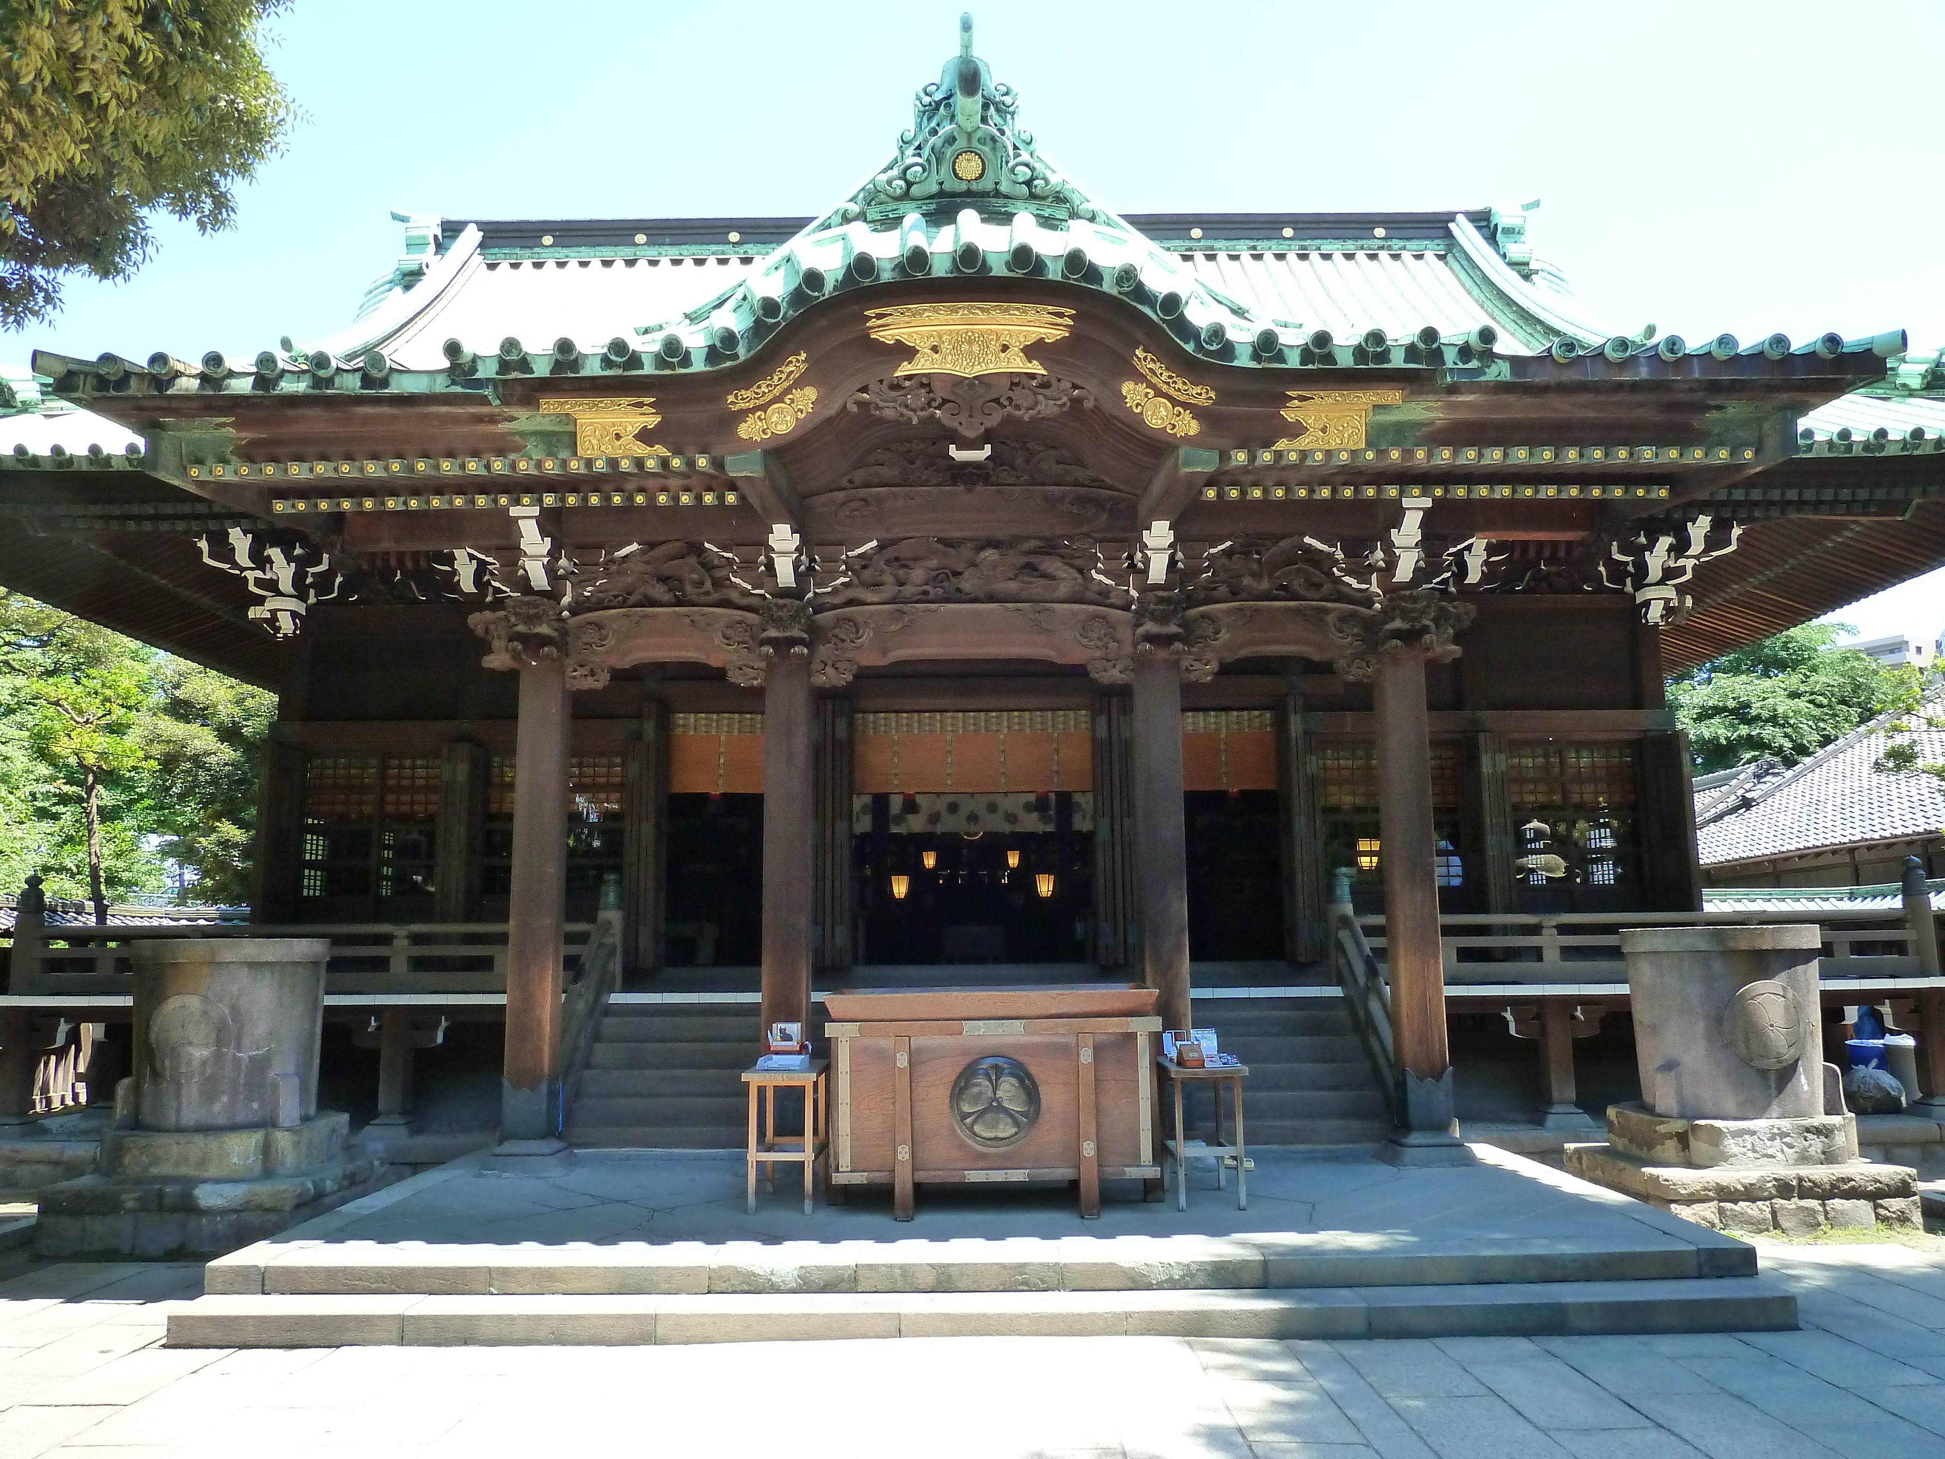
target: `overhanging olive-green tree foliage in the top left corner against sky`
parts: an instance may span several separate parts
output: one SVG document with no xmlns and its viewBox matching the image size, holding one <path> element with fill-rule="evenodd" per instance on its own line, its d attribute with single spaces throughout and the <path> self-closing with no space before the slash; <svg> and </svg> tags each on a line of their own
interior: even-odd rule
<svg viewBox="0 0 1945 1459">
<path fill-rule="evenodd" d="M 126 278 L 156 210 L 204 233 L 296 109 L 263 58 L 286 0 L 0 0 L 0 329 L 60 274 Z"/>
</svg>

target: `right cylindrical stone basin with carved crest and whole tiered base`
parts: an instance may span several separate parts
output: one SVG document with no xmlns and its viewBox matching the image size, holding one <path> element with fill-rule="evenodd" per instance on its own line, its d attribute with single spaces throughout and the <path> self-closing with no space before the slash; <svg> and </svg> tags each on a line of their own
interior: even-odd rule
<svg viewBox="0 0 1945 1459">
<path fill-rule="evenodd" d="M 1821 942 L 1803 924 L 1622 932 L 1642 1103 L 1607 1111 L 1607 1144 L 1568 1146 L 1568 1171 L 1725 1231 L 1918 1226 L 1916 1171 L 1859 1159 L 1826 1093 Z"/>
</svg>

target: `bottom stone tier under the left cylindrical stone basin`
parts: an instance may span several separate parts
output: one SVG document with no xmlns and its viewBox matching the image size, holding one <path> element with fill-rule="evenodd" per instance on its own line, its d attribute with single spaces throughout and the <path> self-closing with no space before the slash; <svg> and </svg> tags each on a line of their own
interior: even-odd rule
<svg viewBox="0 0 1945 1459">
<path fill-rule="evenodd" d="M 39 1257 L 220 1257 L 395 1179 L 399 1171 L 381 1159 L 255 1181 L 84 1175 L 41 1192 L 33 1247 Z"/>
</svg>

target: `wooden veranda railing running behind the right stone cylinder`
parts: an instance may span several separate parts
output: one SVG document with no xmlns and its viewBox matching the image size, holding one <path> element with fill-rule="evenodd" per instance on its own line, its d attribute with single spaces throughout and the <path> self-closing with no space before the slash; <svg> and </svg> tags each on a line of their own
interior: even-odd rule
<svg viewBox="0 0 1945 1459">
<path fill-rule="evenodd" d="M 1824 979 L 1920 977 L 1912 932 L 1898 908 L 1859 912 L 1457 912 L 1439 918 L 1445 982 L 1618 982 L 1628 980 L 1620 955 L 1622 928 L 1750 926 L 1774 922 L 1842 922 L 1822 928 Z M 1385 918 L 1356 918 L 1373 951 L 1385 945 Z"/>
</svg>

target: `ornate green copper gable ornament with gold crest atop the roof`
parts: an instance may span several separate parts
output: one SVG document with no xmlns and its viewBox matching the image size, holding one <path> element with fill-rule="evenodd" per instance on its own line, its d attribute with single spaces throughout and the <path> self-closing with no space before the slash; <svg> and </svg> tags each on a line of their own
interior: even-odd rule
<svg viewBox="0 0 1945 1459">
<path fill-rule="evenodd" d="M 908 210 L 914 202 L 1008 198 L 1064 218 L 1099 220 L 1081 193 L 1041 160 L 1017 123 L 1019 97 L 972 54 L 972 16 L 959 18 L 959 53 L 920 88 L 899 152 L 821 226 Z"/>
</svg>

